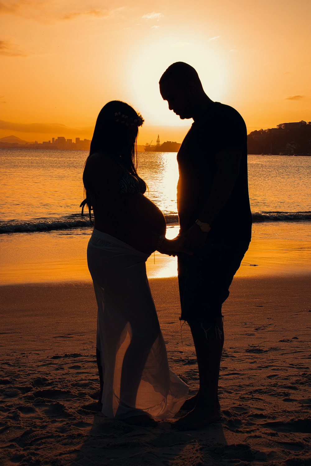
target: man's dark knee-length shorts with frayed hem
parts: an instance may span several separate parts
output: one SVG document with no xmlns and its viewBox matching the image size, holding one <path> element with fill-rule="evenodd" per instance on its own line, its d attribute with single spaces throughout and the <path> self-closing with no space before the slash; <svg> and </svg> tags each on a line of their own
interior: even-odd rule
<svg viewBox="0 0 311 466">
<path fill-rule="evenodd" d="M 193 256 L 178 254 L 180 320 L 213 325 L 240 267 L 249 241 L 232 244 L 207 241 Z"/>
</svg>

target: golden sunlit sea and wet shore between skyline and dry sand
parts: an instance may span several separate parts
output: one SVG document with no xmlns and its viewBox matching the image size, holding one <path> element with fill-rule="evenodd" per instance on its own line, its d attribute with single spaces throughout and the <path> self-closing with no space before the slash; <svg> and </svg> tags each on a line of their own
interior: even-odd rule
<svg viewBox="0 0 311 466">
<path fill-rule="evenodd" d="M 38 267 L 47 281 L 88 276 L 85 248 L 92 226 L 88 215 L 81 217 L 79 207 L 87 155 L 86 151 L 0 149 L 0 282 L 29 281 L 29 277 L 36 281 Z M 266 266 L 296 264 L 297 269 L 310 270 L 311 158 L 249 155 L 248 165 L 256 254 L 246 265 L 265 251 Z M 148 185 L 146 195 L 166 216 L 167 236 L 174 237 L 178 233 L 176 153 L 140 152 L 138 172 Z M 231 227 L 237 226 L 228 226 L 228 235 Z M 172 274 L 176 274 L 174 258 L 156 254 L 149 259 L 149 276 Z"/>
</svg>

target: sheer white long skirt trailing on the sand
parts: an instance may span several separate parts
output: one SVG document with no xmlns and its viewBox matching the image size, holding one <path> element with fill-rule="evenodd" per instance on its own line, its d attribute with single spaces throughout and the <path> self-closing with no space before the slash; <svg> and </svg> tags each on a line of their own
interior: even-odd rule
<svg viewBox="0 0 311 466">
<path fill-rule="evenodd" d="M 98 230 L 92 233 L 87 255 L 98 305 L 102 412 L 117 419 L 145 413 L 173 417 L 188 387 L 168 367 L 146 276 L 148 255 Z"/>
</svg>

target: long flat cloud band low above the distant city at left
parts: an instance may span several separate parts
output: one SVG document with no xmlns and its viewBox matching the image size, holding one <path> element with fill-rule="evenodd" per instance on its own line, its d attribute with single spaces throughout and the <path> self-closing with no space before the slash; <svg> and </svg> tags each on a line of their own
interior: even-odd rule
<svg viewBox="0 0 311 466">
<path fill-rule="evenodd" d="M 69 132 L 79 133 L 82 131 L 89 131 L 91 133 L 94 130 L 94 127 L 86 126 L 83 128 L 69 128 L 69 126 L 62 123 L 13 123 L 10 121 L 0 120 L 0 130 L 13 130 L 23 133 L 68 134 Z"/>
</svg>

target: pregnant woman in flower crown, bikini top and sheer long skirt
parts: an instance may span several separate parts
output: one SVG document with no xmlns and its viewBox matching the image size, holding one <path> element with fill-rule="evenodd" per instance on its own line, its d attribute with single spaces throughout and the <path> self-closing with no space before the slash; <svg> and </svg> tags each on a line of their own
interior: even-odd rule
<svg viewBox="0 0 311 466">
<path fill-rule="evenodd" d="M 169 370 L 145 261 L 155 250 L 187 251 L 183 238 L 165 238 L 164 215 L 144 196 L 135 158 L 143 122 L 124 102 L 100 111 L 81 206 L 94 212 L 87 258 L 98 306 L 98 406 L 109 418 L 153 426 L 179 411 L 188 388 Z"/>
</svg>

